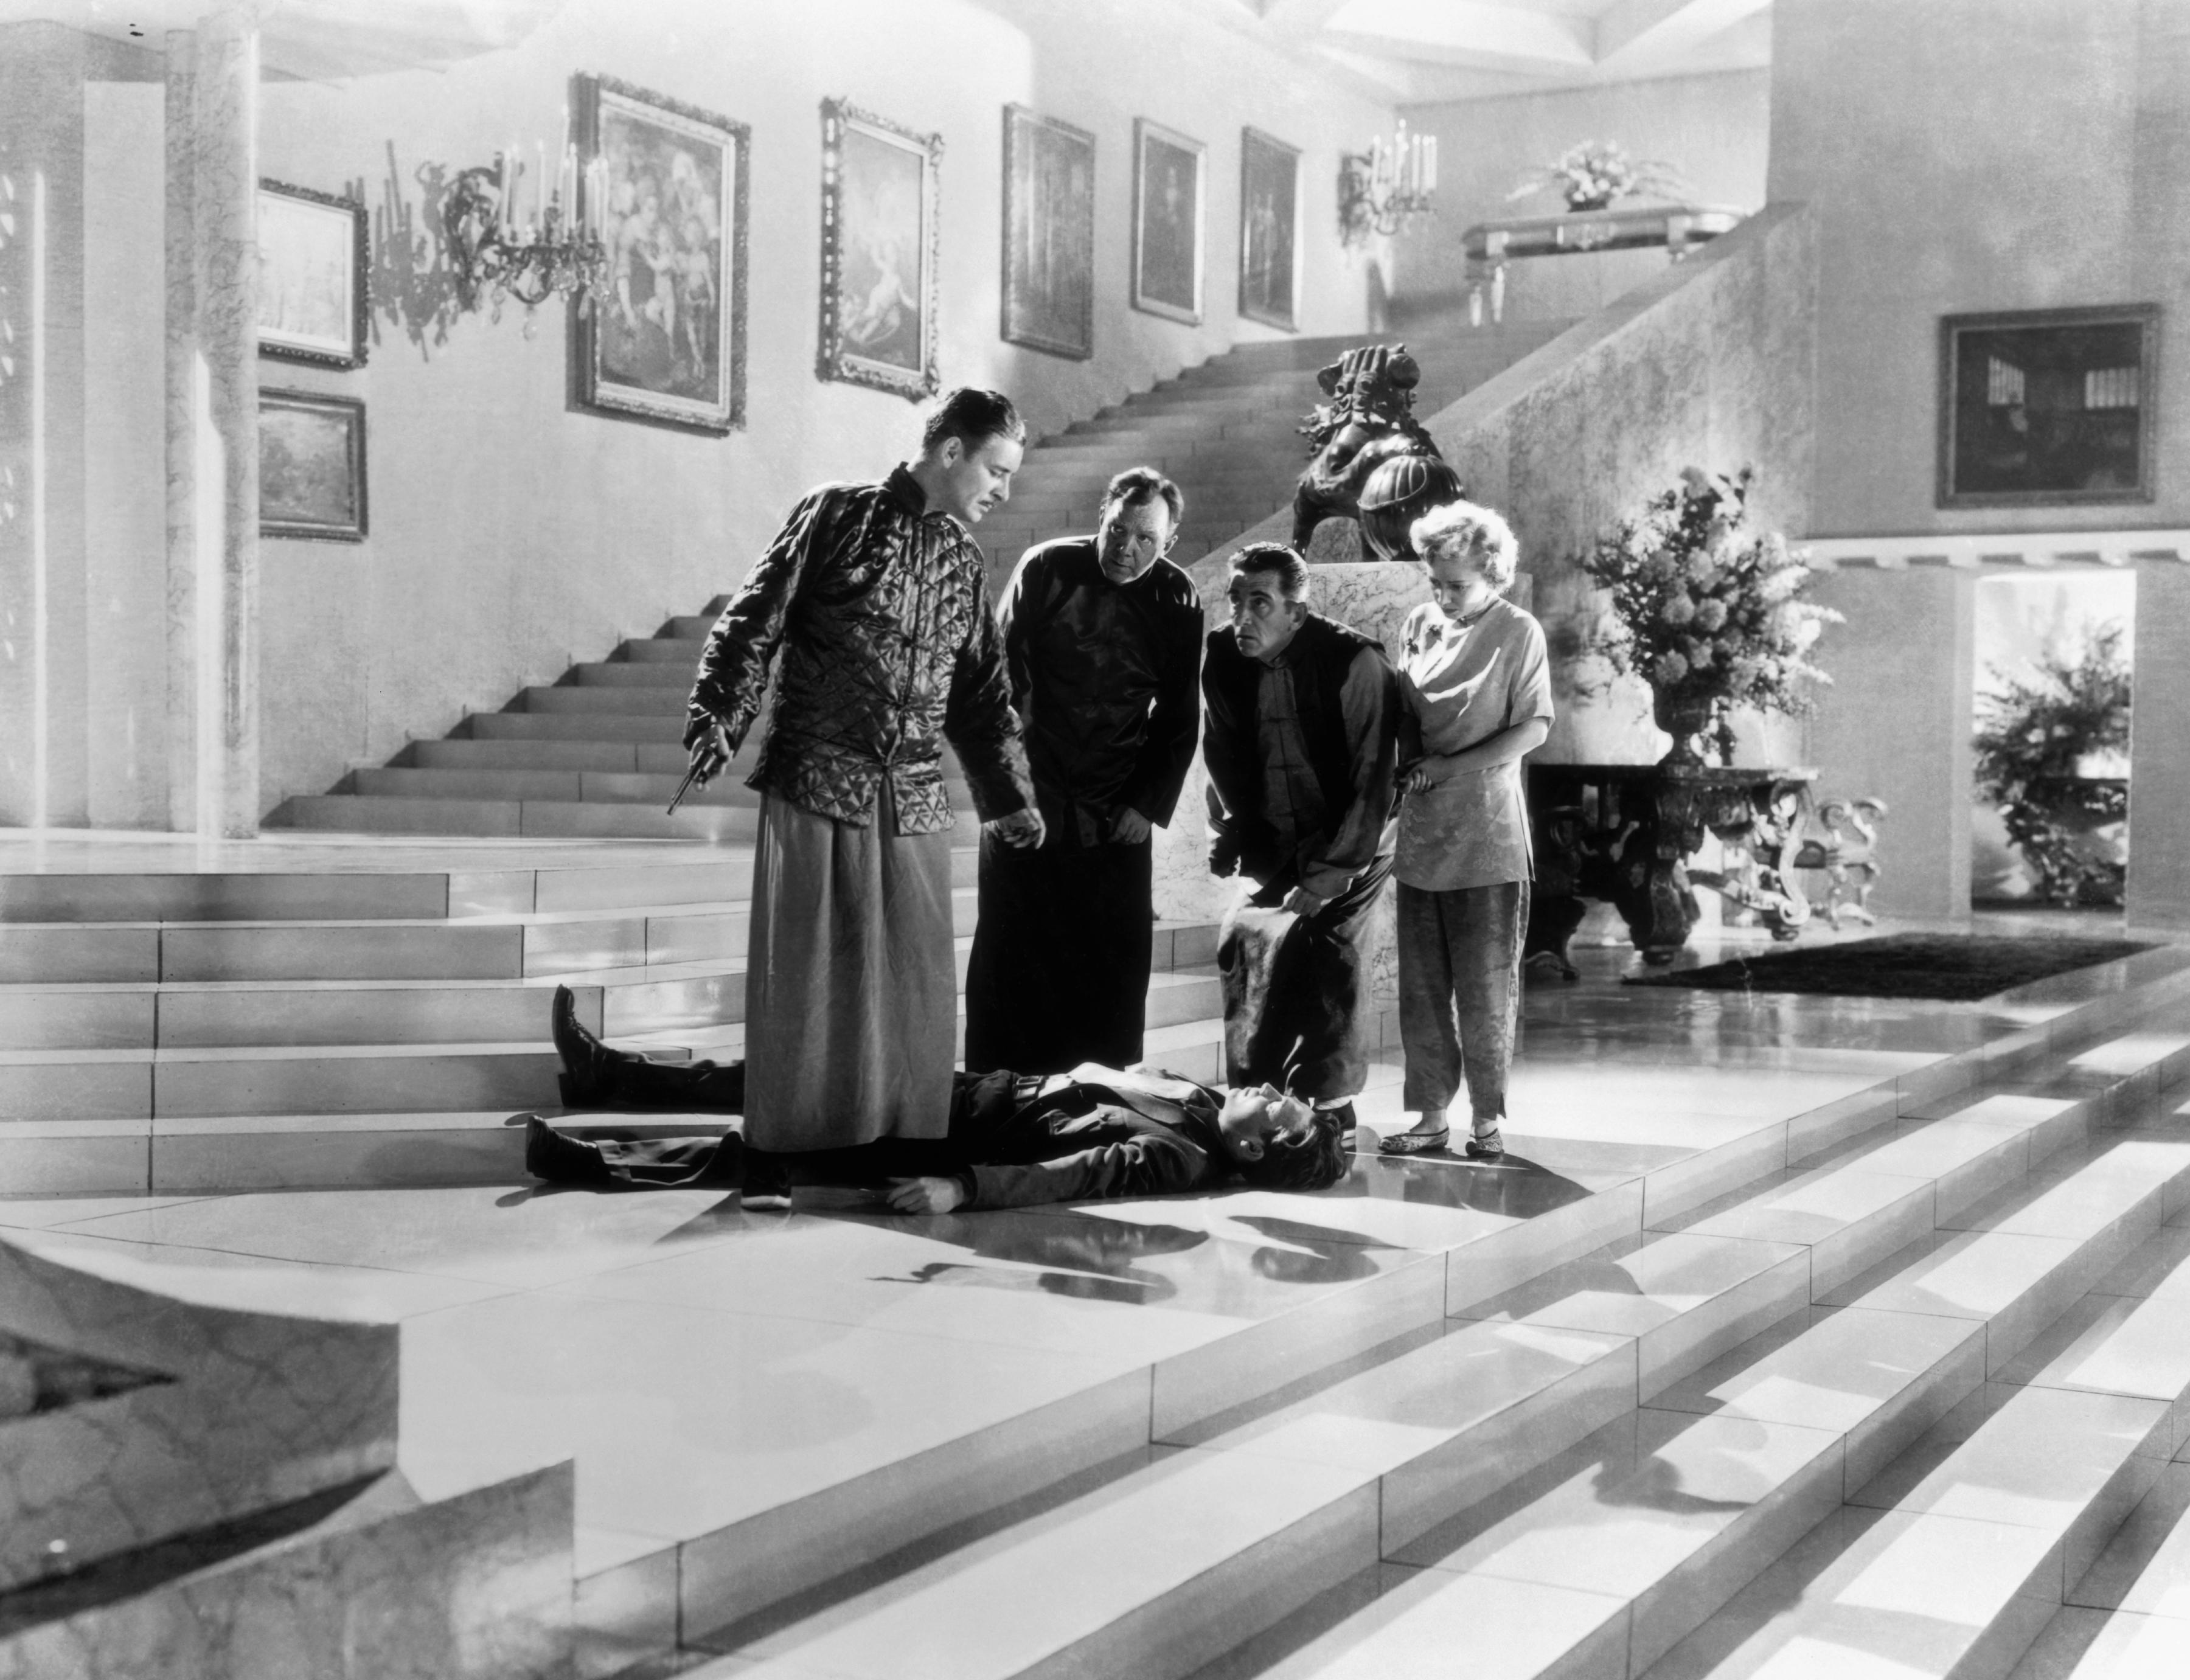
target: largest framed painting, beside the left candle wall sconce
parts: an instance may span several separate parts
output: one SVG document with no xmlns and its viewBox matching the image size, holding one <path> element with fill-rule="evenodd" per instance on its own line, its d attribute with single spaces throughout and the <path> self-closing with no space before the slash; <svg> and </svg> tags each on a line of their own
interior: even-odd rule
<svg viewBox="0 0 2190 1680">
<path fill-rule="evenodd" d="M 731 431 L 745 425 L 751 129 L 613 77 L 576 77 L 572 94 L 578 208 L 609 250 L 607 300 L 569 311 L 576 399 Z"/>
</svg>

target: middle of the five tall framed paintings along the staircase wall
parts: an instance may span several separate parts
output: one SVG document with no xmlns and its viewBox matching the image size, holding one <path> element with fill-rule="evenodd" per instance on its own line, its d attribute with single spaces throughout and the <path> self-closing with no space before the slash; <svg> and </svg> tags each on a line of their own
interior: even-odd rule
<svg viewBox="0 0 2190 1680">
<path fill-rule="evenodd" d="M 1095 136 L 1003 107 L 1003 337 L 1095 355 Z"/>
</svg>

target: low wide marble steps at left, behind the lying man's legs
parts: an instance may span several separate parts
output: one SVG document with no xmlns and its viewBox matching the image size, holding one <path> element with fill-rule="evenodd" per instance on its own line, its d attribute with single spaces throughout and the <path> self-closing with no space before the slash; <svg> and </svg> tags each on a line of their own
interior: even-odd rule
<svg viewBox="0 0 2190 1680">
<path fill-rule="evenodd" d="M 0 872 L 0 1189 L 508 1181 L 510 1113 L 554 1102 L 556 986 L 648 1054 L 742 1054 L 749 845 L 423 854 L 438 867 L 300 843 L 293 872 Z M 970 848 L 953 878 L 964 981 Z M 1204 1078 L 1213 959 L 1213 927 L 1159 927 L 1152 1054 Z"/>
</svg>

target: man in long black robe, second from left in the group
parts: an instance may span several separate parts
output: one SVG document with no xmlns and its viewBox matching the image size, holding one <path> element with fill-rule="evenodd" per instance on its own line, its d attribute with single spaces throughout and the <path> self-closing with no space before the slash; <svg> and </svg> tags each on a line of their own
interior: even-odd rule
<svg viewBox="0 0 2190 1680">
<path fill-rule="evenodd" d="M 1150 828 L 1194 762 L 1202 605 L 1165 554 L 1185 499 L 1148 467 L 1110 480 L 1093 537 L 1027 552 L 999 607 L 1038 848 L 981 837 L 966 1067 L 1062 1073 L 1141 1060 Z"/>
</svg>

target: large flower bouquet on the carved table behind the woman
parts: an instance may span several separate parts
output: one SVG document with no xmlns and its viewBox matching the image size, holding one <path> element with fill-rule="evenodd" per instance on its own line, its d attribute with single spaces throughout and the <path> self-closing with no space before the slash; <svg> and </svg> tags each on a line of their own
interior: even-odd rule
<svg viewBox="0 0 2190 1680">
<path fill-rule="evenodd" d="M 1831 681 L 1805 655 L 1840 613 L 1802 600 L 1809 563 L 1785 537 L 1750 530 L 1750 477 L 1688 467 L 1581 561 L 1612 591 L 1590 646 L 1651 686 L 1678 760 L 1699 762 L 1688 740 L 1706 729 L 1724 758 L 1737 705 L 1805 712 L 1805 683 Z"/>
</svg>

